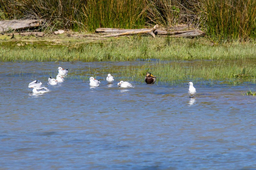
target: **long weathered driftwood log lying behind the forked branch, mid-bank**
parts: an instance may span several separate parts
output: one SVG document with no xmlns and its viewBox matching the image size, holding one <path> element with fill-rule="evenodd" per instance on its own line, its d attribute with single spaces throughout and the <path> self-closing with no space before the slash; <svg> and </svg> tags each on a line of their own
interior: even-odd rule
<svg viewBox="0 0 256 170">
<path fill-rule="evenodd" d="M 118 34 L 119 36 L 122 35 L 127 35 L 126 33 L 131 33 L 133 32 L 134 34 L 137 33 L 143 33 L 143 32 L 148 32 L 152 29 L 147 29 L 147 28 L 142 28 L 142 29 L 118 29 L 118 28 L 98 28 L 96 29 L 96 33 L 105 33 L 105 34 L 110 34 L 110 35 L 115 35 Z M 205 33 L 201 30 L 187 30 L 187 31 L 172 31 L 172 32 L 167 32 L 164 30 L 158 30 L 156 29 L 153 32 L 155 35 L 170 35 L 171 37 L 196 37 L 196 36 L 202 36 L 205 35 Z M 130 34 L 131 35 L 131 34 Z"/>
</svg>

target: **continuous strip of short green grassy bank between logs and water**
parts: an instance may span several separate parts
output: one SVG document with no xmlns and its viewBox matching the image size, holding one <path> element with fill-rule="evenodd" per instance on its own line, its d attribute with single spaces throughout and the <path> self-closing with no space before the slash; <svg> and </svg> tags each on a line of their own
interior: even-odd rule
<svg viewBox="0 0 256 170">
<path fill-rule="evenodd" d="M 220 60 L 254 58 L 255 43 L 213 44 L 205 38 L 133 36 L 104 41 L 40 39 L 0 41 L 0 61 Z"/>
</svg>

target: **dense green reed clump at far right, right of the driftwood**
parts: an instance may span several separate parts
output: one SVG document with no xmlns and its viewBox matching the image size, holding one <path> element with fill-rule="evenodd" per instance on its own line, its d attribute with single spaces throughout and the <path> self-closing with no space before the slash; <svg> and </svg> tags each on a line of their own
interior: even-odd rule
<svg viewBox="0 0 256 170">
<path fill-rule="evenodd" d="M 256 38 L 255 0 L 206 0 L 207 33 L 215 41 Z"/>
</svg>

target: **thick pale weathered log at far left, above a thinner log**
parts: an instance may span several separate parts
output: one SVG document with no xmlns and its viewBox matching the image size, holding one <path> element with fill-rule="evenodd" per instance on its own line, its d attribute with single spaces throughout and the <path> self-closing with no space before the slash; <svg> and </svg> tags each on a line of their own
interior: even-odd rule
<svg viewBox="0 0 256 170">
<path fill-rule="evenodd" d="M 43 20 L 40 19 L 2 20 L 0 21 L 0 32 L 36 27 L 39 26 L 42 21 Z"/>
</svg>

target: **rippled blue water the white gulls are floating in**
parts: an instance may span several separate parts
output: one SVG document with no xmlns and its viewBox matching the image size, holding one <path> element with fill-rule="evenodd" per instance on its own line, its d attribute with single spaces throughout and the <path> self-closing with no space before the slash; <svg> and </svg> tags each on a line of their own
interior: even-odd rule
<svg viewBox="0 0 256 170">
<path fill-rule="evenodd" d="M 47 85 L 59 66 L 89 64 L 138 61 L 0 63 L 0 169 L 256 168 L 256 98 L 241 94 L 255 85 L 194 84 L 191 99 L 187 85 L 121 89 L 118 77 L 96 88 L 79 78 Z M 33 95 L 36 79 L 51 92 Z"/>
</svg>

